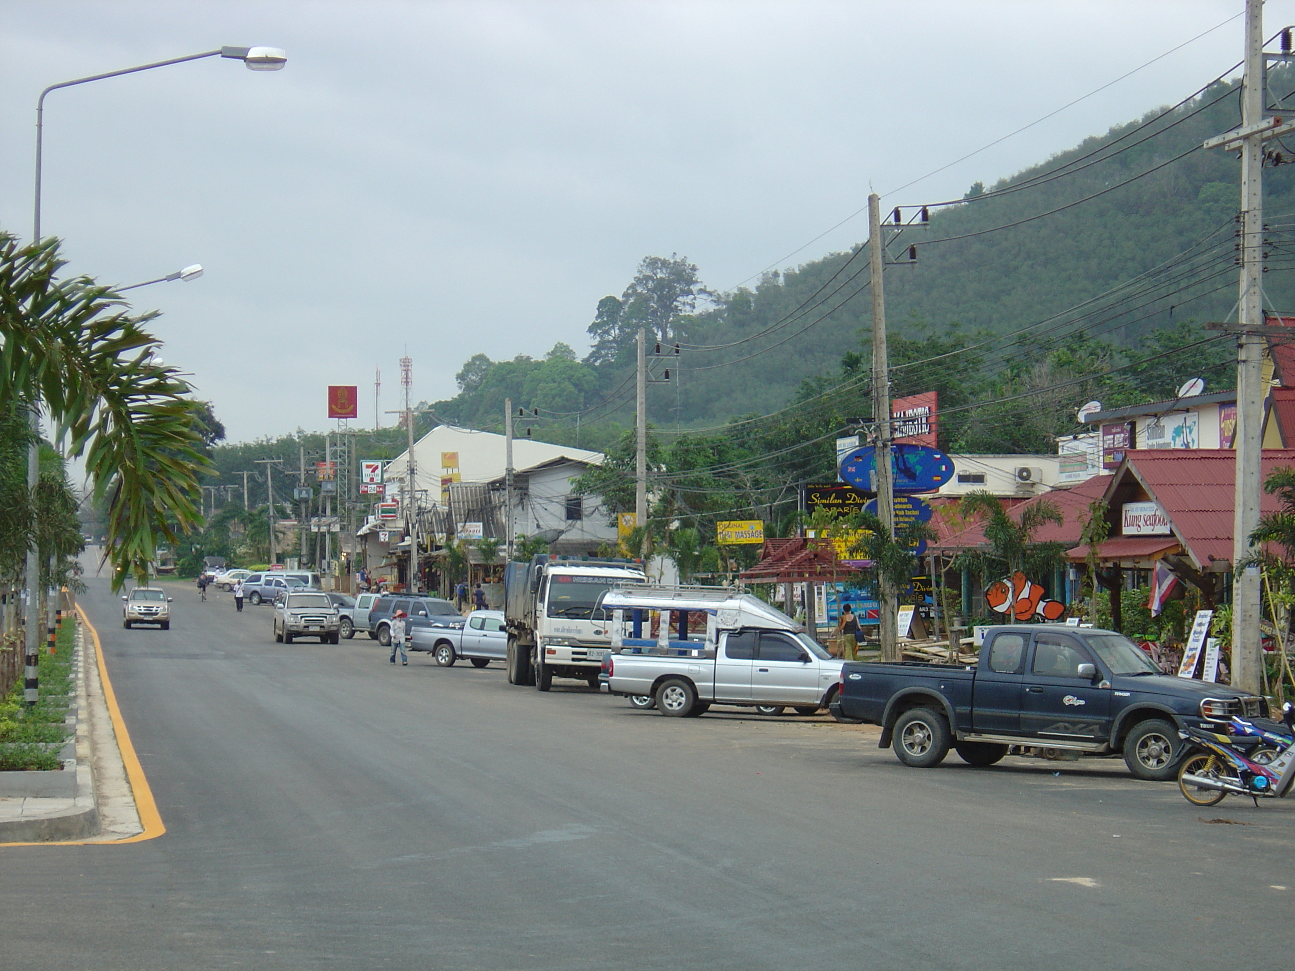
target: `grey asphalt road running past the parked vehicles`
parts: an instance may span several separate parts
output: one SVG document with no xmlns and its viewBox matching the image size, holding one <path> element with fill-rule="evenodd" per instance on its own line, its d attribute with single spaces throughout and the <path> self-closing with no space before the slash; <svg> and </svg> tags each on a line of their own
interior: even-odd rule
<svg viewBox="0 0 1295 971">
<path fill-rule="evenodd" d="M 170 632 L 123 631 L 91 586 L 168 831 L 0 851 L 0 967 L 1290 963 L 1295 800 L 1202 812 L 1107 761 L 905 769 L 821 719 L 276 645 L 269 607 L 186 585 Z"/>
</svg>

